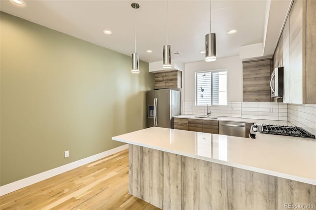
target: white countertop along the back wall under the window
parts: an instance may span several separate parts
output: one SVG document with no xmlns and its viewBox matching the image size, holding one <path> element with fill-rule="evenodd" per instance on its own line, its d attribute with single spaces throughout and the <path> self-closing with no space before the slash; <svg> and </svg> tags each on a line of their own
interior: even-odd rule
<svg viewBox="0 0 316 210">
<path fill-rule="evenodd" d="M 201 116 L 205 118 L 199 118 L 195 116 Z M 287 121 L 279 121 L 279 120 L 260 120 L 260 119 L 246 119 L 246 118 L 238 118 L 238 117 L 218 117 L 214 118 L 206 118 L 206 116 L 202 115 L 178 115 L 174 116 L 174 118 L 188 118 L 188 119 L 200 119 L 200 120 L 218 120 L 218 121 L 231 121 L 231 122 L 246 122 L 246 123 L 257 123 L 259 124 L 269 124 L 269 125 L 289 125 L 293 126 L 290 122 Z"/>
</svg>

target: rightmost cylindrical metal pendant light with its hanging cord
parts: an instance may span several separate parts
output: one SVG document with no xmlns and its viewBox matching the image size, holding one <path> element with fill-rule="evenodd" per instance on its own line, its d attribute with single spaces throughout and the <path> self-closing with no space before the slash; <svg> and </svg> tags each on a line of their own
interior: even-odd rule
<svg viewBox="0 0 316 210">
<path fill-rule="evenodd" d="M 210 0 L 209 34 L 205 35 L 205 61 L 216 61 L 216 35 L 212 33 L 212 0 Z"/>
</svg>

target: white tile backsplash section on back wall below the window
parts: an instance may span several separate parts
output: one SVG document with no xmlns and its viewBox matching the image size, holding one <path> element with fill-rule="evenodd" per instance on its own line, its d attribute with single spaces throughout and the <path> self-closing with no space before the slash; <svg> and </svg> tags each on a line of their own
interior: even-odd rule
<svg viewBox="0 0 316 210">
<path fill-rule="evenodd" d="M 229 102 L 227 106 L 209 106 L 212 116 L 287 121 L 287 104 L 270 102 Z M 207 106 L 184 102 L 184 114 L 206 115 Z"/>
</svg>

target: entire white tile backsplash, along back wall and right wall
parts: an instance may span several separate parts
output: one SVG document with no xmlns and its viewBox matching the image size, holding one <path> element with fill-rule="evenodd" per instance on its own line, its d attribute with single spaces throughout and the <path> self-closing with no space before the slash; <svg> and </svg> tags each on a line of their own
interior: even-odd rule
<svg viewBox="0 0 316 210">
<path fill-rule="evenodd" d="M 229 102 L 227 106 L 209 106 L 212 116 L 289 121 L 316 135 L 316 105 L 274 102 Z M 206 115 L 207 106 L 184 102 L 184 114 Z"/>
</svg>

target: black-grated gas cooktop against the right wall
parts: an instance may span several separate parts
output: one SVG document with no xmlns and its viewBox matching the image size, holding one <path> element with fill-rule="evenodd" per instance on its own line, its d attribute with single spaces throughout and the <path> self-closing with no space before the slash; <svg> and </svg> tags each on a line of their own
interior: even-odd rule
<svg viewBox="0 0 316 210">
<path fill-rule="evenodd" d="M 280 125 L 261 125 L 262 134 L 276 134 L 283 136 L 292 136 L 292 137 L 303 137 L 314 139 L 315 135 L 312 135 L 305 131 L 303 128 L 296 126 L 280 126 Z"/>
</svg>

